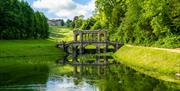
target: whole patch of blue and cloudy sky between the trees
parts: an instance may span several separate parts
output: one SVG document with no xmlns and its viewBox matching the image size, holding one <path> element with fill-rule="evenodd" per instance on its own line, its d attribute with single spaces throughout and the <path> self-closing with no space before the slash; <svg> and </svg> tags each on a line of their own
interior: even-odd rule
<svg viewBox="0 0 180 91">
<path fill-rule="evenodd" d="M 74 16 L 92 16 L 95 0 L 25 0 L 35 11 L 43 12 L 49 19 L 73 19 Z"/>
</svg>

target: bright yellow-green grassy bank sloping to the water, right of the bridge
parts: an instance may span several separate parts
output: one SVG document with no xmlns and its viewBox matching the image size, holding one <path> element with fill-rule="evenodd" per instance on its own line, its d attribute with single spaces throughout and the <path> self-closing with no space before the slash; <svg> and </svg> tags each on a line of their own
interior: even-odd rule
<svg viewBox="0 0 180 91">
<path fill-rule="evenodd" d="M 115 54 L 121 63 L 157 79 L 180 83 L 180 53 L 150 47 L 125 45 Z"/>
</svg>

